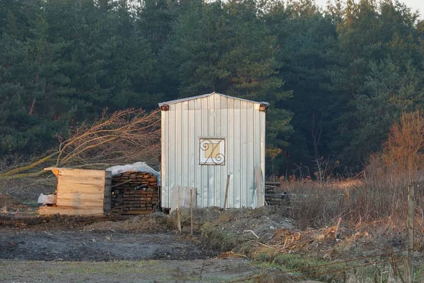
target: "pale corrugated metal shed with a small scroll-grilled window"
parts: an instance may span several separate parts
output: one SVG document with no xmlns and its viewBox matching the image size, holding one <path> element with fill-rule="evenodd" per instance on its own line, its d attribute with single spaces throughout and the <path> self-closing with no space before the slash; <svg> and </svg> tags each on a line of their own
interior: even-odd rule
<svg viewBox="0 0 424 283">
<path fill-rule="evenodd" d="M 264 205 L 268 103 L 208 93 L 159 104 L 162 112 L 161 205 L 174 186 L 196 187 L 197 207 Z"/>
</svg>

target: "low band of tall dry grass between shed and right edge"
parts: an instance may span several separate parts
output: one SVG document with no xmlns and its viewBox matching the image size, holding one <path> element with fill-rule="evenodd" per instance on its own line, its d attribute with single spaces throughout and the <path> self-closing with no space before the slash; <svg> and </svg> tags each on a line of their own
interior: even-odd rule
<svg viewBox="0 0 424 283">
<path fill-rule="evenodd" d="M 378 163 L 370 161 L 365 178 L 360 180 L 331 180 L 319 183 L 312 180 L 283 182 L 281 190 L 293 194 L 289 217 L 300 229 L 319 228 L 343 224 L 359 229 L 370 223 L 383 222 L 382 226 L 401 231 L 405 228 L 408 177 L 393 174 Z M 415 178 L 416 229 L 424 233 L 424 182 Z"/>
</svg>

